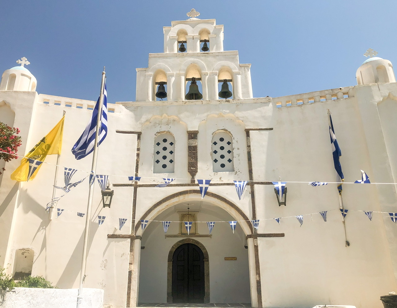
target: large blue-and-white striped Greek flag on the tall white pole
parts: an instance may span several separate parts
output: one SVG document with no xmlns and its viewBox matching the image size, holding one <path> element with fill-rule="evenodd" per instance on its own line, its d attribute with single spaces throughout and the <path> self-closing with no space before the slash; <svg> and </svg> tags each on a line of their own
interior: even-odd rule
<svg viewBox="0 0 397 308">
<path fill-rule="evenodd" d="M 107 108 L 107 92 L 106 92 L 106 83 L 103 89 L 103 107 L 102 114 L 100 117 L 100 131 L 99 131 L 99 142 L 98 145 L 95 145 L 95 133 L 96 133 L 96 121 L 98 118 L 98 109 L 99 109 L 99 98 L 95 104 L 95 108 L 93 111 L 93 115 L 91 116 L 91 121 L 85 127 L 85 130 L 81 134 L 79 140 L 75 143 L 72 148 L 72 153 L 77 160 L 84 158 L 88 154 L 90 154 L 94 150 L 94 146 L 99 146 L 102 141 L 104 141 L 106 135 L 108 134 L 108 108 Z"/>
</svg>

